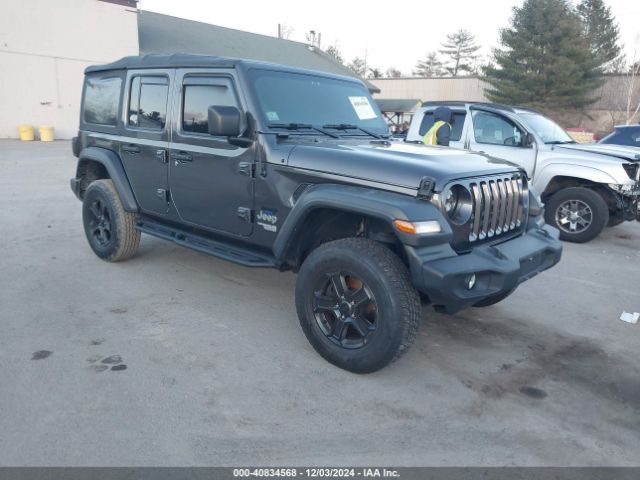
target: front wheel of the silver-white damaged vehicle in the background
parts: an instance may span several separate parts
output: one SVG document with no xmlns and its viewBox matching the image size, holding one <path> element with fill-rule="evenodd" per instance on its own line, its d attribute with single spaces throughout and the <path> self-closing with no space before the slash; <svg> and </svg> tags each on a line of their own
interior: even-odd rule
<svg viewBox="0 0 640 480">
<path fill-rule="evenodd" d="M 584 243 L 600 235 L 609 223 L 609 207 L 594 190 L 565 188 L 548 200 L 545 220 L 560 230 L 560 239 Z"/>
</svg>

